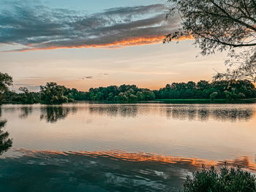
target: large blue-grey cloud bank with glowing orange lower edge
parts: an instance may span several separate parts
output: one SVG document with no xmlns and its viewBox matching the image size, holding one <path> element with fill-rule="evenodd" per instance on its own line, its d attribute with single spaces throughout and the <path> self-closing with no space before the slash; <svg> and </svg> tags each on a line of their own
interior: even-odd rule
<svg viewBox="0 0 256 192">
<path fill-rule="evenodd" d="M 37 1 L 36 1 L 37 2 Z M 41 3 L 3 1 L 0 44 L 23 45 L 13 51 L 59 48 L 118 48 L 162 42 L 178 28 L 179 19 L 165 20 L 164 4 L 117 7 L 87 15 L 70 9 L 52 9 Z"/>
</svg>

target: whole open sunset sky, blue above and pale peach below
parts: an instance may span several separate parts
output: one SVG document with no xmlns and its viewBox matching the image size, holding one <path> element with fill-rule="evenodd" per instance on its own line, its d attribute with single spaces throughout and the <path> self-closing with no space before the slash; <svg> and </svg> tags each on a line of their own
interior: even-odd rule
<svg viewBox="0 0 256 192">
<path fill-rule="evenodd" d="M 11 89 L 58 82 L 91 87 L 211 80 L 225 53 L 200 55 L 193 39 L 163 44 L 180 27 L 167 0 L 0 0 L 0 71 Z"/>
</svg>

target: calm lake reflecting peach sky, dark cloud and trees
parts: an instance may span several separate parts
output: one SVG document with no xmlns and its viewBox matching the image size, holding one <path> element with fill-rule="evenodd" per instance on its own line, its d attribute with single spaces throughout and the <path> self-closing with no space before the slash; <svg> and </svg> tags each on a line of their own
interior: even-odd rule
<svg viewBox="0 0 256 192">
<path fill-rule="evenodd" d="M 4 104 L 0 116 L 2 191 L 178 191 L 202 164 L 256 170 L 256 104 Z"/>
</svg>

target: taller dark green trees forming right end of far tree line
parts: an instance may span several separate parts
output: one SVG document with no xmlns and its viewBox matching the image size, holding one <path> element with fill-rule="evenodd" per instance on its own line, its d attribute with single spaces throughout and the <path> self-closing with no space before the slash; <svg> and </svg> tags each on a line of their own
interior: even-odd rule
<svg viewBox="0 0 256 192">
<path fill-rule="evenodd" d="M 173 82 L 154 91 L 156 99 L 252 99 L 255 85 L 248 80 L 207 82 Z"/>
</svg>

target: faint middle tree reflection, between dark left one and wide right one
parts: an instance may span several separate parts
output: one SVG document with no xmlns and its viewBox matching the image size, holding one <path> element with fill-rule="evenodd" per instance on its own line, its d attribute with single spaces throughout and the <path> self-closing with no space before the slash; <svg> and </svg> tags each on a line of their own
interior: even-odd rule
<svg viewBox="0 0 256 192">
<path fill-rule="evenodd" d="M 108 115 L 110 117 L 129 118 L 136 117 L 138 114 L 138 107 L 136 105 L 106 105 L 106 106 L 90 106 L 89 112 L 91 114 Z"/>
</svg>

